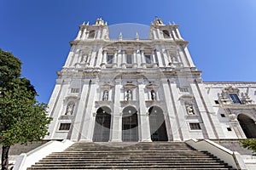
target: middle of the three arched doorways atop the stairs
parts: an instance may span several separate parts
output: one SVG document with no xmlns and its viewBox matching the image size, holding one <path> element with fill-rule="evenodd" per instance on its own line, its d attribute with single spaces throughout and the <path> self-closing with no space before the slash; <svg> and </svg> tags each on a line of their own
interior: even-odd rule
<svg viewBox="0 0 256 170">
<path fill-rule="evenodd" d="M 138 141 L 137 110 L 128 106 L 123 110 L 122 140 L 124 142 Z"/>
</svg>

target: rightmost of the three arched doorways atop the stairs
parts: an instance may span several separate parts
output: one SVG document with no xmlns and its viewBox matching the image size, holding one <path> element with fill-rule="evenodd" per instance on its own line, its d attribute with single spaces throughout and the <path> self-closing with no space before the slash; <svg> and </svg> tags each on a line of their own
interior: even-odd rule
<svg viewBox="0 0 256 170">
<path fill-rule="evenodd" d="M 148 110 L 149 125 L 152 141 L 167 141 L 166 122 L 163 111 L 158 106 L 152 106 Z"/>
</svg>

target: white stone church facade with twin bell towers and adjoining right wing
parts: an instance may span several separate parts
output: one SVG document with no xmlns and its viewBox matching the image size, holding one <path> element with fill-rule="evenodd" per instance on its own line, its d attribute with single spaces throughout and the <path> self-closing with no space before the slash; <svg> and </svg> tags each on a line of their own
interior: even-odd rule
<svg viewBox="0 0 256 170">
<path fill-rule="evenodd" d="M 203 82 L 178 26 L 148 39 L 79 26 L 49 99 L 46 139 L 95 142 L 256 138 L 256 82 Z"/>
</svg>

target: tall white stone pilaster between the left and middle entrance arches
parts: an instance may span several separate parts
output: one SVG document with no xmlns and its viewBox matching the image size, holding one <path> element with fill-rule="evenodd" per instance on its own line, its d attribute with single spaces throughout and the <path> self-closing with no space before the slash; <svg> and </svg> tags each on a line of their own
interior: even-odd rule
<svg viewBox="0 0 256 170">
<path fill-rule="evenodd" d="M 122 80 L 121 79 L 115 80 L 112 128 L 110 131 L 110 141 L 111 142 L 121 142 L 122 141 L 122 113 L 120 111 L 121 88 L 122 88 Z"/>
</svg>

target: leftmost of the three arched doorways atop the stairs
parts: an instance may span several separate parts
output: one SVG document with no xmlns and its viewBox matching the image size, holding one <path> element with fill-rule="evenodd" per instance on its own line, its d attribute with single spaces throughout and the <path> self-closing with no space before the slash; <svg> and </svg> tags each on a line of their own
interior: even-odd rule
<svg viewBox="0 0 256 170">
<path fill-rule="evenodd" d="M 94 127 L 94 142 L 108 142 L 110 133 L 111 110 L 106 107 L 100 107 L 96 111 L 96 120 Z"/>
</svg>

